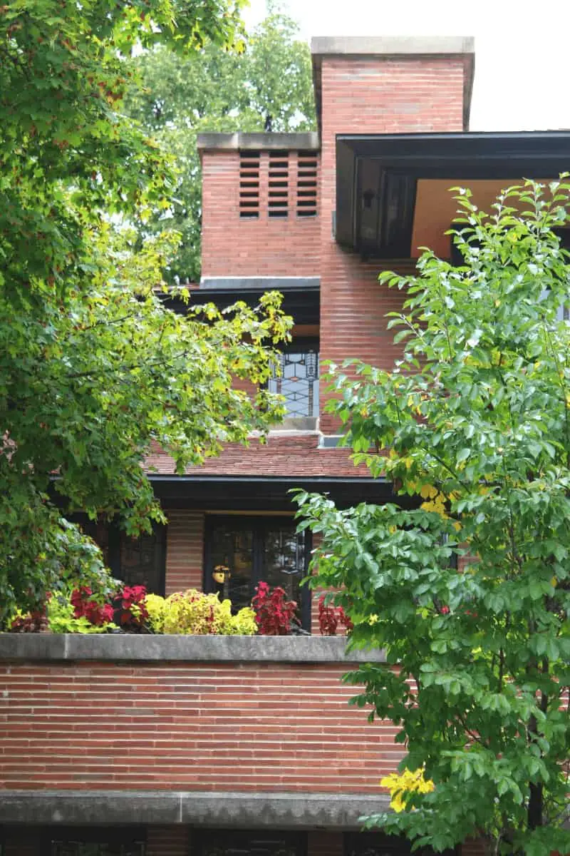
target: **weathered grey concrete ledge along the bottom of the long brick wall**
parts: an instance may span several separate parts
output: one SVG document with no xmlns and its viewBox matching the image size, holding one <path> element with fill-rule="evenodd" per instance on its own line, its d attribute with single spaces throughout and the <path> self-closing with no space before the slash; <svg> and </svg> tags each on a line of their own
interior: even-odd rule
<svg viewBox="0 0 570 856">
<path fill-rule="evenodd" d="M 386 794 L 5 790 L 0 823 L 359 829 L 359 817 L 385 811 L 388 805 Z"/>
</svg>

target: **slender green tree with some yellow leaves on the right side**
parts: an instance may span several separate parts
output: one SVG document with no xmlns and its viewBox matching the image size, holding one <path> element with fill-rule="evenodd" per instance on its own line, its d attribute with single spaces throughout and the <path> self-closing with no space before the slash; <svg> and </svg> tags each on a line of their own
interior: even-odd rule
<svg viewBox="0 0 570 856">
<path fill-rule="evenodd" d="M 348 680 L 399 727 L 415 781 L 368 825 L 438 851 L 485 835 L 492 853 L 568 853 L 570 265 L 551 229 L 570 185 L 510 188 L 491 216 L 459 193 L 465 264 L 426 252 L 418 276 L 380 277 L 407 291 L 403 359 L 332 369 L 356 461 L 415 507 L 301 494 L 302 526 L 351 645 L 385 649 Z"/>
</svg>

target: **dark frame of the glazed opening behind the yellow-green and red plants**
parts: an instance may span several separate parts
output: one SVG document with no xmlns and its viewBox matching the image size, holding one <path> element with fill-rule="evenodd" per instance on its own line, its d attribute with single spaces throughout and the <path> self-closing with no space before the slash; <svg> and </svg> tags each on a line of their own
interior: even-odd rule
<svg viewBox="0 0 570 856">
<path fill-rule="evenodd" d="M 212 538 L 215 526 L 229 526 L 235 528 L 251 529 L 253 532 L 253 573 L 251 575 L 250 592 L 251 597 L 255 594 L 255 586 L 263 577 L 261 575 L 262 533 L 272 526 L 283 522 L 295 525 L 295 520 L 285 514 L 206 514 L 204 520 L 204 551 L 203 551 L 203 591 L 211 594 L 216 591 L 212 571 L 214 570 L 212 560 Z M 313 539 L 311 532 L 305 530 L 305 556 L 304 568 L 301 579 L 309 574 L 309 562 Z M 311 627 L 311 592 L 308 586 L 301 586 L 301 603 L 299 606 L 299 618 L 304 630 L 309 631 Z"/>
</svg>

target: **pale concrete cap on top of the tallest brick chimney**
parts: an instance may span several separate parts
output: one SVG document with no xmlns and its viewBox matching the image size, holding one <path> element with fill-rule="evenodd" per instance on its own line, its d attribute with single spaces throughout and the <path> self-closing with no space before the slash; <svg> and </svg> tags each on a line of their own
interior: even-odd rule
<svg viewBox="0 0 570 856">
<path fill-rule="evenodd" d="M 450 56 L 472 54 L 473 36 L 317 36 L 311 53 L 336 56 Z"/>
</svg>

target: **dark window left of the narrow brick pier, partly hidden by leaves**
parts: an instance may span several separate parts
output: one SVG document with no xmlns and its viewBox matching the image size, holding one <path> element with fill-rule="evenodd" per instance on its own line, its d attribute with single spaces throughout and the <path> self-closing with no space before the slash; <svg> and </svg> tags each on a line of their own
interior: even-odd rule
<svg viewBox="0 0 570 856">
<path fill-rule="evenodd" d="M 127 586 L 146 586 L 164 594 L 166 526 L 155 525 L 150 534 L 129 538 L 119 526 L 103 521 L 79 520 L 81 528 L 103 551 L 105 563 Z"/>
</svg>

